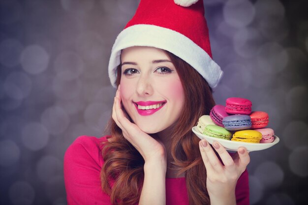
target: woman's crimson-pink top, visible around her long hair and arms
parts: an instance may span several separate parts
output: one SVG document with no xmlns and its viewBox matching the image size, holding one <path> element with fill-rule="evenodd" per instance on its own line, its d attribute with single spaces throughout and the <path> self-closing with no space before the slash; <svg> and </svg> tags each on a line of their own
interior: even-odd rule
<svg viewBox="0 0 308 205">
<path fill-rule="evenodd" d="M 101 190 L 103 165 L 102 138 L 81 136 L 69 146 L 64 156 L 64 182 L 68 205 L 111 205 L 110 197 Z M 249 205 L 248 173 L 236 186 L 237 205 Z M 166 178 L 166 205 L 188 205 L 185 178 Z"/>
</svg>

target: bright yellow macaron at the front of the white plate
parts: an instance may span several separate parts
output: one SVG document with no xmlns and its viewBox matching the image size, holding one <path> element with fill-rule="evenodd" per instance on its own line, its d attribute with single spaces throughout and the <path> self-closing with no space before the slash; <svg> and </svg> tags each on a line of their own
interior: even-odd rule
<svg viewBox="0 0 308 205">
<path fill-rule="evenodd" d="M 241 130 L 233 134 L 231 141 L 245 143 L 260 143 L 262 134 L 255 130 Z"/>
</svg>

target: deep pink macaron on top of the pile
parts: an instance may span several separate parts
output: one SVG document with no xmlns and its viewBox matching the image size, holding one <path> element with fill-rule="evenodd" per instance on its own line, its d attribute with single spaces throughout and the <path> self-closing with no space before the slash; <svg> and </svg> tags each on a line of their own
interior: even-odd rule
<svg viewBox="0 0 308 205">
<path fill-rule="evenodd" d="M 250 100 L 240 97 L 229 97 L 226 99 L 225 110 L 231 115 L 249 115 L 251 113 L 252 103 Z"/>
</svg>

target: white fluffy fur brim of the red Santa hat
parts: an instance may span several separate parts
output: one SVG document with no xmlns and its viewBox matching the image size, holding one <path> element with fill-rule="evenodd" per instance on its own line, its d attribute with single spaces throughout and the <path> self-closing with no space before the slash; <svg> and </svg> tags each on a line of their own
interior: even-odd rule
<svg viewBox="0 0 308 205">
<path fill-rule="evenodd" d="M 219 65 L 185 35 L 163 27 L 139 24 L 124 29 L 112 47 L 108 72 L 110 82 L 115 88 L 121 51 L 132 46 L 150 46 L 171 52 L 196 69 L 212 89 L 216 88 L 223 74 Z"/>
</svg>

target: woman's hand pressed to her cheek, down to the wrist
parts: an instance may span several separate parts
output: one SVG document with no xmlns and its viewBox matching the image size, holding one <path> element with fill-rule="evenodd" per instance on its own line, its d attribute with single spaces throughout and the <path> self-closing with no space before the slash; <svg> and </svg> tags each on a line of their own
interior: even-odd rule
<svg viewBox="0 0 308 205">
<path fill-rule="evenodd" d="M 121 108 L 120 86 L 117 89 L 112 108 L 112 118 L 122 129 L 123 136 L 130 142 L 147 161 L 166 161 L 164 145 L 143 132 L 136 124 L 130 122 Z"/>
</svg>

